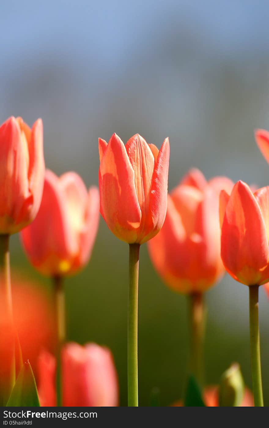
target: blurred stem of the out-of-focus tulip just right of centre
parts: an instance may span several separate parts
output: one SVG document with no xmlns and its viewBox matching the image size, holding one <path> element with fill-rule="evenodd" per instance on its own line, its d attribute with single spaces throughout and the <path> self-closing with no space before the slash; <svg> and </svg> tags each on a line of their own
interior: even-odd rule
<svg viewBox="0 0 269 428">
<path fill-rule="evenodd" d="M 190 371 L 200 387 L 204 383 L 204 330 L 206 310 L 201 292 L 189 295 Z"/>
</svg>

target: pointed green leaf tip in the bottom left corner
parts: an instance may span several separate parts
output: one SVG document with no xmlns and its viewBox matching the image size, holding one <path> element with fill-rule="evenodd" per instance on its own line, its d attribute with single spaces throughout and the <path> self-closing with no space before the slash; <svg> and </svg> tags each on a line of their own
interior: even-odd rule
<svg viewBox="0 0 269 428">
<path fill-rule="evenodd" d="M 29 363 L 24 363 L 6 407 L 40 407 L 35 377 Z"/>
</svg>

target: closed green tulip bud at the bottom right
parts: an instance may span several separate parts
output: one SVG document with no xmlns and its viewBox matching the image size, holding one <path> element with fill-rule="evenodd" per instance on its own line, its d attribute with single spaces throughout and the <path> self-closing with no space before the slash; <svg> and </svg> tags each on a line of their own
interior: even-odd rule
<svg viewBox="0 0 269 428">
<path fill-rule="evenodd" d="M 220 380 L 219 406 L 240 407 L 245 392 L 244 379 L 238 363 L 233 363 Z"/>
</svg>

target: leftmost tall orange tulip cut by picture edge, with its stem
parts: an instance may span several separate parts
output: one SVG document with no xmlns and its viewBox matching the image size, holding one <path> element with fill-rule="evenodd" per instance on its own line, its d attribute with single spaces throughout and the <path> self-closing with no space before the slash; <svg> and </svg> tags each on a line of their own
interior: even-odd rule
<svg viewBox="0 0 269 428">
<path fill-rule="evenodd" d="M 9 398 L 15 383 L 15 336 L 9 266 L 9 235 L 27 226 L 35 218 L 44 184 L 43 125 L 38 119 L 33 128 L 21 118 L 10 117 L 0 126 L 0 293 L 2 315 L 9 325 L 6 338 L 9 353 L 9 380 L 4 395 Z M 6 330 L 7 331 L 7 330 Z M 1 331 L 2 338 L 6 332 Z M 9 340 L 10 339 L 10 340 Z M 4 403 L 6 404 L 6 403 Z"/>
</svg>

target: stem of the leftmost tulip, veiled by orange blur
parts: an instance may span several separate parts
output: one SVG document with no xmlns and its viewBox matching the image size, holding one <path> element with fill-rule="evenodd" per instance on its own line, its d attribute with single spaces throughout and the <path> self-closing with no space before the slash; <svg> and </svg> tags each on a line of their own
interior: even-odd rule
<svg viewBox="0 0 269 428">
<path fill-rule="evenodd" d="M 10 261 L 9 261 L 9 235 L 0 235 L 0 294 L 1 294 L 1 310 L 3 319 L 11 334 L 10 346 L 10 364 L 8 373 L 7 390 L 4 392 L 3 405 L 9 398 L 9 395 L 15 384 L 15 342 L 14 342 L 14 325 L 12 312 L 12 293 L 10 281 Z M 2 336 L 3 337 L 3 336 Z"/>
</svg>

